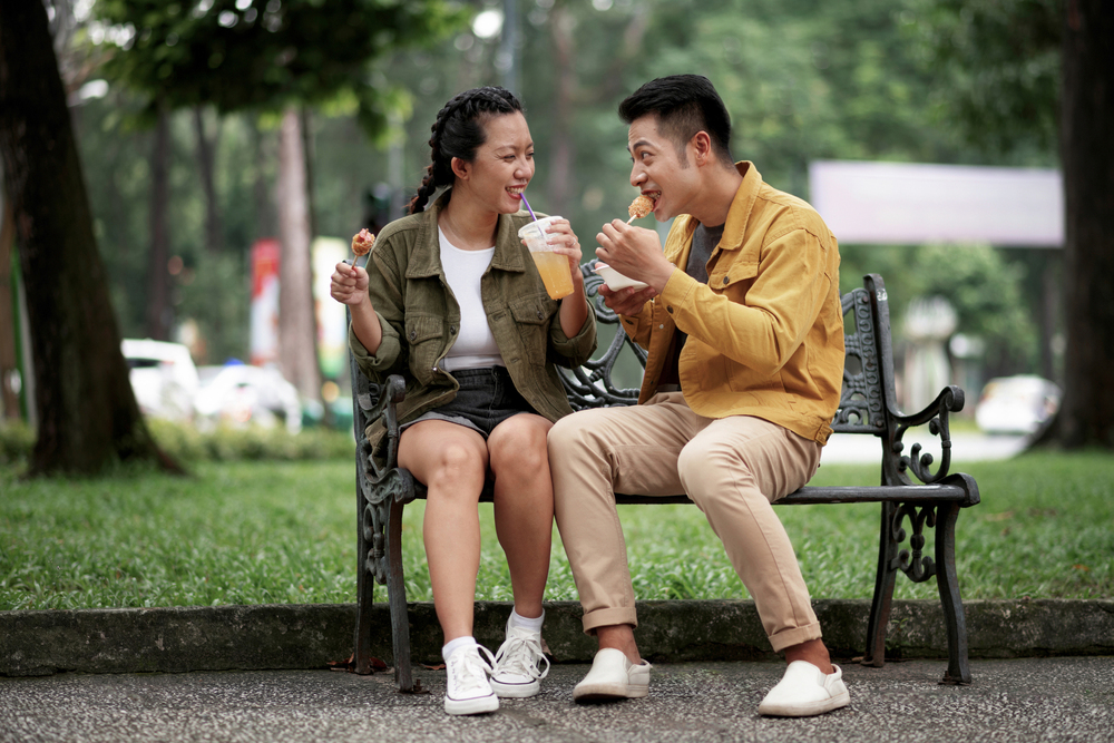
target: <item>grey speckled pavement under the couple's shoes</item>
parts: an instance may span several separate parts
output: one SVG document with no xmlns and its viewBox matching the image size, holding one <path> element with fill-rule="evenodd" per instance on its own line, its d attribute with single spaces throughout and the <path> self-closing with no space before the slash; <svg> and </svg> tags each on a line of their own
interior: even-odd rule
<svg viewBox="0 0 1114 743">
<path fill-rule="evenodd" d="M 938 685 L 938 661 L 847 664 L 851 705 L 803 720 L 758 715 L 781 663 L 662 664 L 648 698 L 576 705 L 587 667 L 555 665 L 539 696 L 475 717 L 446 715 L 444 672 L 424 668 L 424 695 L 399 694 L 391 674 L 329 671 L 0 678 L 0 741 L 1114 740 L 1112 657 L 975 661 L 969 686 Z"/>
</svg>

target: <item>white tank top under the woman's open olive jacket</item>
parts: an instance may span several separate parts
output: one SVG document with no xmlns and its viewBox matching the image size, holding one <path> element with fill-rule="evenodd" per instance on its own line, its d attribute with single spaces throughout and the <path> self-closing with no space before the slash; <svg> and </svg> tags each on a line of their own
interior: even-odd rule
<svg viewBox="0 0 1114 743">
<path fill-rule="evenodd" d="M 480 369 L 483 366 L 506 366 L 495 335 L 483 312 L 483 301 L 480 297 L 480 278 L 491 264 L 495 247 L 486 251 L 462 251 L 437 228 L 441 246 L 441 266 L 444 268 L 444 281 L 448 282 L 452 295 L 460 305 L 460 327 L 457 329 L 457 340 L 449 349 L 442 366 L 448 372 L 458 369 Z"/>
</svg>

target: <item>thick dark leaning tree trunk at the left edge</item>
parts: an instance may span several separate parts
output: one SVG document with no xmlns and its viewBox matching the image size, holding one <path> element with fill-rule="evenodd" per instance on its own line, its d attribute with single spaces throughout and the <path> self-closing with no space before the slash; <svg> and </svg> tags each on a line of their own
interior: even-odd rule
<svg viewBox="0 0 1114 743">
<path fill-rule="evenodd" d="M 117 460 L 159 458 L 120 353 L 47 12 L 38 0 L 0 0 L 0 155 L 36 370 L 39 429 L 30 472 L 91 473 Z"/>
</svg>

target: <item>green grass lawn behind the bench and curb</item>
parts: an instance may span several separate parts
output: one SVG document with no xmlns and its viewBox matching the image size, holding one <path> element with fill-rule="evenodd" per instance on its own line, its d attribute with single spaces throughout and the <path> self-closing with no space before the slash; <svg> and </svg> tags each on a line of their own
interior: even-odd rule
<svg viewBox="0 0 1114 743">
<path fill-rule="evenodd" d="M 23 481 L 0 466 L 0 609 L 352 602 L 352 470 L 348 460 L 219 462 L 197 465 L 189 478 Z M 1042 452 L 964 470 L 983 496 L 957 528 L 965 598 L 1114 597 L 1114 457 Z M 813 482 L 877 477 L 874 466 L 824 466 Z M 878 510 L 778 509 L 813 597 L 871 595 Z M 491 507 L 480 511 L 477 598 L 509 599 Z M 411 600 L 431 598 L 422 514 L 417 502 L 404 518 Z M 627 506 L 622 518 L 639 598 L 746 596 L 695 507 Z M 934 598 L 935 581 L 899 576 L 896 596 Z M 576 598 L 556 539 L 547 598 Z"/>
</svg>

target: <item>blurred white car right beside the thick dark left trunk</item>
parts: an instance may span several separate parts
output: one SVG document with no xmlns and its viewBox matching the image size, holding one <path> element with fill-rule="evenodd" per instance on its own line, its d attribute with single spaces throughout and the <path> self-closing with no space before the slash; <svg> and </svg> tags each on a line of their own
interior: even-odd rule
<svg viewBox="0 0 1114 743">
<path fill-rule="evenodd" d="M 139 410 L 153 418 L 190 420 L 197 392 L 197 366 L 180 343 L 125 339 L 120 351 Z"/>
</svg>

